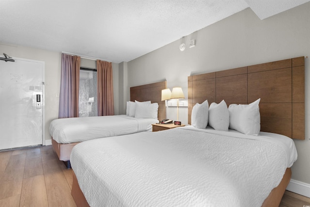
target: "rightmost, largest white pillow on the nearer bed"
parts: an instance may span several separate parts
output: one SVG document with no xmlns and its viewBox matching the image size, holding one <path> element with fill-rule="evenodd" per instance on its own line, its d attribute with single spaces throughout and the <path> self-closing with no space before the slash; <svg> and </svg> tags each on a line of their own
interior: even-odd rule
<svg viewBox="0 0 310 207">
<path fill-rule="evenodd" d="M 259 135 L 261 130 L 260 100 L 259 98 L 248 105 L 231 104 L 228 107 L 229 127 L 244 134 Z"/>
</svg>

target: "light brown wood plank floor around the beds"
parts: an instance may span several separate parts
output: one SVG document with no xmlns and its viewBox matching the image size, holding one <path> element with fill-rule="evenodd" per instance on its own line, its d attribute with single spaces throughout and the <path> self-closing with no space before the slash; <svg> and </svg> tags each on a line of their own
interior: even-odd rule
<svg viewBox="0 0 310 207">
<path fill-rule="evenodd" d="M 52 146 L 0 152 L 0 207 L 76 207 L 72 170 Z M 310 198 L 286 191 L 280 207 L 310 206 Z"/>
</svg>

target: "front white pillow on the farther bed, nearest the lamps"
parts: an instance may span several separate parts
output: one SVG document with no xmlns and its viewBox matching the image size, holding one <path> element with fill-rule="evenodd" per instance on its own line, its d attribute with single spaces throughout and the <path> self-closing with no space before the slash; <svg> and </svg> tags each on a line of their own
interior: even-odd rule
<svg viewBox="0 0 310 207">
<path fill-rule="evenodd" d="M 158 115 L 158 103 L 145 103 L 145 102 L 136 102 L 136 118 L 153 118 L 157 119 Z"/>
</svg>

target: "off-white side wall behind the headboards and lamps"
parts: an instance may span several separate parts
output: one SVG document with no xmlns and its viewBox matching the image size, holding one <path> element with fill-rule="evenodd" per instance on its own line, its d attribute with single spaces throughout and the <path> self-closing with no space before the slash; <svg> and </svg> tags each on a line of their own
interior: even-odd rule
<svg viewBox="0 0 310 207">
<path fill-rule="evenodd" d="M 309 11 L 310 2 L 260 20 L 248 8 L 128 62 L 128 87 L 167 80 L 169 88 L 181 86 L 187 98 L 190 75 L 310 56 Z M 192 38 L 196 47 L 188 48 Z M 181 42 L 186 43 L 183 52 Z M 305 59 L 305 70 L 306 140 L 294 140 L 298 159 L 292 178 L 310 184 L 310 58 Z"/>
</svg>

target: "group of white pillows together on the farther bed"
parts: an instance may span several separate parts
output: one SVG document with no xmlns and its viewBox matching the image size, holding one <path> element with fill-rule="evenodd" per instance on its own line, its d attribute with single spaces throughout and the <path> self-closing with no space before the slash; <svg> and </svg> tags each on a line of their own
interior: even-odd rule
<svg viewBox="0 0 310 207">
<path fill-rule="evenodd" d="M 127 101 L 126 115 L 136 118 L 153 118 L 157 119 L 158 104 L 151 101 Z"/>
</svg>

